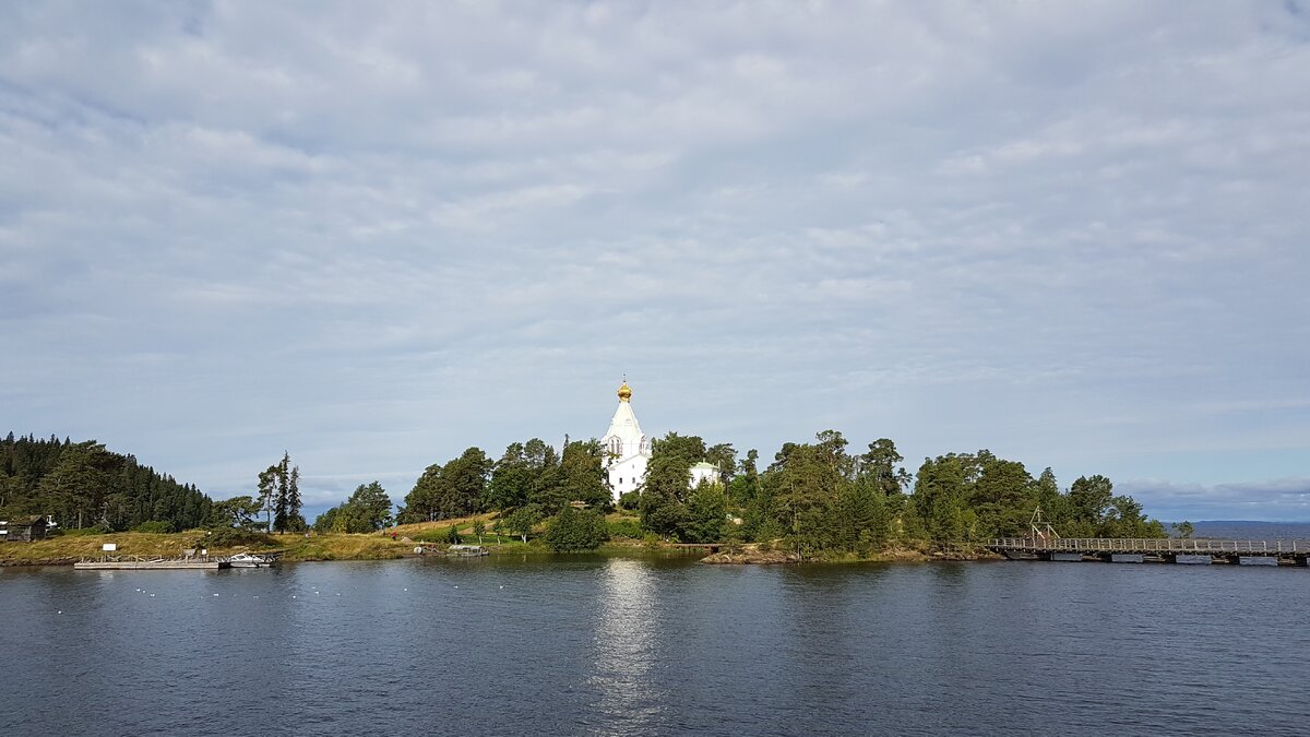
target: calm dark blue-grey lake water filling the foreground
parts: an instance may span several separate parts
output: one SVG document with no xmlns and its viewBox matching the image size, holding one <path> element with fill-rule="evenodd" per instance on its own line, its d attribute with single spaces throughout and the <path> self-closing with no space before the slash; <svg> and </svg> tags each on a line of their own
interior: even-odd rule
<svg viewBox="0 0 1310 737">
<path fill-rule="evenodd" d="M 1307 601 L 1306 569 L 1091 563 L 0 569 L 0 713 L 16 734 L 1305 734 Z"/>
</svg>

